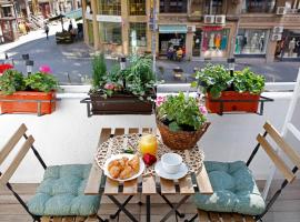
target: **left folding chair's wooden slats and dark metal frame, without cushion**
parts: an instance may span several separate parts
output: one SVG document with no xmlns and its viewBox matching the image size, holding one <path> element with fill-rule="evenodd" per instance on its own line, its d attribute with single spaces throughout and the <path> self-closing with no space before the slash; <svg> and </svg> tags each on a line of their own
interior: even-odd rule
<svg viewBox="0 0 300 222">
<path fill-rule="evenodd" d="M 0 151 L 0 165 L 3 164 L 3 162 L 8 159 L 9 154 L 13 151 L 13 149 L 17 147 L 17 144 L 21 143 L 21 139 L 24 138 L 24 142 L 22 143 L 20 150 L 16 154 L 16 157 L 12 159 L 8 168 L 0 172 L 0 189 L 2 186 L 7 186 L 12 194 L 17 198 L 19 203 L 24 208 L 24 210 L 32 216 L 33 221 L 41 221 L 41 222 L 81 222 L 81 221 L 104 221 L 98 215 L 93 216 L 40 216 L 32 214 L 26 202 L 22 200 L 22 198 L 13 190 L 12 185 L 10 184 L 9 180 L 20 165 L 21 161 L 26 157 L 29 150 L 32 150 L 43 169 L 47 169 L 47 165 L 44 164 L 42 158 L 40 157 L 39 152 L 33 147 L 34 139 L 32 135 L 27 135 L 27 127 L 26 124 L 21 124 L 19 129 L 12 134 L 12 137 L 9 139 L 9 141 L 4 144 L 4 147 Z"/>
</svg>

